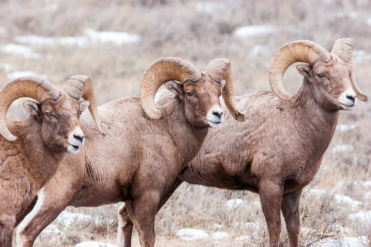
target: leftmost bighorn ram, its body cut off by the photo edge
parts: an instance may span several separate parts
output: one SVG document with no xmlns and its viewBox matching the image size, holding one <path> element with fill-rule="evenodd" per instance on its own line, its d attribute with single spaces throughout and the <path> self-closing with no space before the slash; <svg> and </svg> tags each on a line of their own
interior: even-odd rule
<svg viewBox="0 0 371 247">
<path fill-rule="evenodd" d="M 82 110 L 89 110 L 99 128 L 93 86 L 83 75 L 67 81 L 60 91 L 47 80 L 19 78 L 0 91 L 0 246 L 12 246 L 14 227 L 30 211 L 36 193 L 52 177 L 67 152 L 76 154 L 85 142 L 80 129 Z M 6 119 L 19 97 L 30 116 Z M 26 219 L 27 221 L 27 219 Z M 22 226 L 18 226 L 22 228 Z"/>
</svg>

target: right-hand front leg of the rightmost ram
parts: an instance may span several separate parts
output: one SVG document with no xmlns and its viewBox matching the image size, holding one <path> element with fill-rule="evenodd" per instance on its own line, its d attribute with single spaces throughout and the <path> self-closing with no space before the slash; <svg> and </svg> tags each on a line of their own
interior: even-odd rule
<svg viewBox="0 0 371 247">
<path fill-rule="evenodd" d="M 286 193 L 282 198 L 282 214 L 286 222 L 286 229 L 289 235 L 289 247 L 299 245 L 300 234 L 300 215 L 299 202 L 302 195 L 302 189 L 291 193 Z"/>
</svg>

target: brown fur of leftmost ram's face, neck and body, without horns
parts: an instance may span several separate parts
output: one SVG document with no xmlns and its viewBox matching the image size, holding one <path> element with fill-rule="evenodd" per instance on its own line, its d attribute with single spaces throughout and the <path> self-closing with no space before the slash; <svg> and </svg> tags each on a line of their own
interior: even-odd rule
<svg viewBox="0 0 371 247">
<path fill-rule="evenodd" d="M 0 246 L 12 245 L 19 220 L 30 211 L 36 193 L 56 172 L 67 150 L 69 132 L 79 126 L 80 102 L 60 92 L 47 99 L 27 119 L 7 120 L 18 139 L 0 136 Z M 47 117 L 50 111 L 58 117 Z M 38 113 L 38 114 L 37 114 Z"/>
</svg>

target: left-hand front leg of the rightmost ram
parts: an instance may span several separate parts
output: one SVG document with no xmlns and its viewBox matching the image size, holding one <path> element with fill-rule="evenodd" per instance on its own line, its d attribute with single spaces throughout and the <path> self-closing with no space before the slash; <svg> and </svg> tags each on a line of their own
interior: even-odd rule
<svg viewBox="0 0 371 247">
<path fill-rule="evenodd" d="M 267 222 L 269 247 L 278 247 L 280 240 L 282 191 L 282 183 L 271 180 L 262 180 L 259 183 L 260 204 Z"/>
</svg>

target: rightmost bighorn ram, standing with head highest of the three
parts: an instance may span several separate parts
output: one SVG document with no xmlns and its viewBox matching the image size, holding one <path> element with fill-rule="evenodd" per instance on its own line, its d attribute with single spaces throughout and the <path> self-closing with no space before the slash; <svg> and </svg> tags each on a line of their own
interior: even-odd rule
<svg viewBox="0 0 371 247">
<path fill-rule="evenodd" d="M 269 246 L 278 246 L 280 210 L 289 246 L 298 245 L 299 200 L 302 188 L 315 176 L 330 143 L 339 110 L 352 110 L 361 93 L 352 73 L 350 39 L 336 41 L 331 53 L 309 41 L 284 45 L 269 71 L 272 91 L 236 97 L 249 119 L 243 124 L 228 115 L 222 128 L 212 129 L 199 154 L 170 186 L 163 205 L 177 187 L 188 183 L 259 193 L 269 231 Z M 284 90 L 284 71 L 294 62 L 304 76 L 295 95 Z M 221 145 L 222 143 L 222 145 Z M 119 234 L 131 246 L 133 224 L 122 209 Z"/>
</svg>

